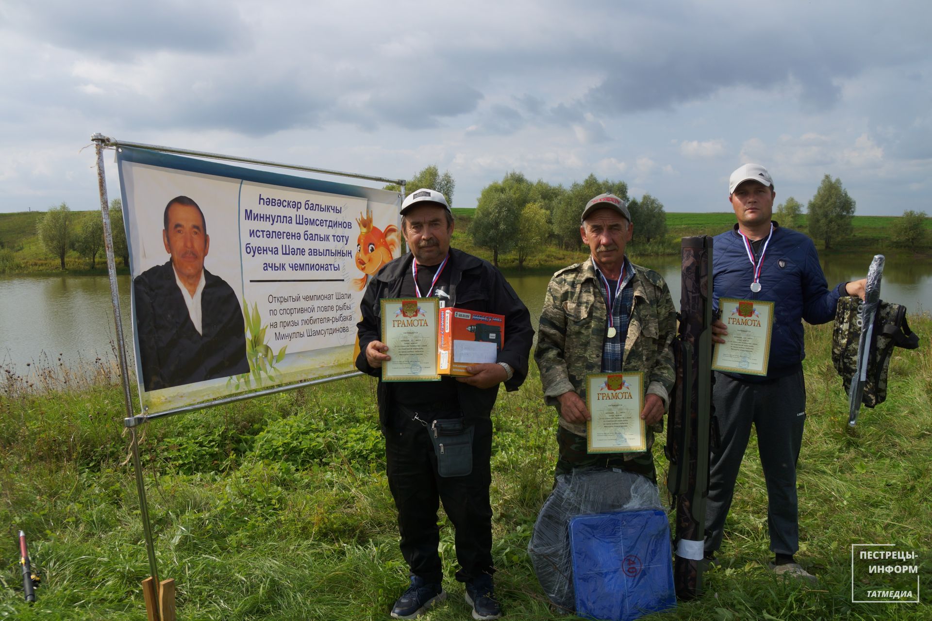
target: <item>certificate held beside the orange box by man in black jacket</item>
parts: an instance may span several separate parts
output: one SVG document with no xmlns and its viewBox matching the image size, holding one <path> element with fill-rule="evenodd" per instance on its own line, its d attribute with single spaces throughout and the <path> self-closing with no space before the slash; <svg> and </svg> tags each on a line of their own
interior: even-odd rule
<svg viewBox="0 0 932 621">
<path fill-rule="evenodd" d="M 381 300 L 382 343 L 391 360 L 382 363 L 383 382 L 439 380 L 437 298 Z"/>
</svg>

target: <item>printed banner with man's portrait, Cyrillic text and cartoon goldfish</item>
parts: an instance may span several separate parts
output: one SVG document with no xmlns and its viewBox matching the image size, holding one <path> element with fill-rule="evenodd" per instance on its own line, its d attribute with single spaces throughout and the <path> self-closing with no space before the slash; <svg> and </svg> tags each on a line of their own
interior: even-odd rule
<svg viewBox="0 0 932 621">
<path fill-rule="evenodd" d="M 117 168 L 149 413 L 354 370 L 400 193 L 127 147 Z"/>
</svg>

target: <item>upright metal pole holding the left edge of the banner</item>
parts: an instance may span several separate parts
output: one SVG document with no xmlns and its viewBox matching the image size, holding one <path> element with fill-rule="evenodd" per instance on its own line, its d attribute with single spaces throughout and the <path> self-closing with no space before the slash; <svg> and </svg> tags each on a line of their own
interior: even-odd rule
<svg viewBox="0 0 932 621">
<path fill-rule="evenodd" d="M 114 259 L 114 238 L 110 230 L 110 206 L 107 201 L 107 184 L 106 177 L 103 174 L 103 142 L 104 137 L 101 134 L 94 134 L 90 137 L 94 142 L 94 150 L 97 152 L 97 184 L 101 193 L 101 213 L 103 214 L 103 246 L 107 253 L 107 272 L 110 275 L 110 299 L 114 306 L 114 323 L 117 326 L 117 354 L 119 356 L 120 379 L 123 382 L 123 401 L 126 406 L 127 417 L 132 417 L 132 395 L 130 394 L 130 374 L 126 361 L 126 343 L 123 339 L 123 321 L 119 312 L 119 290 L 117 289 L 117 262 Z M 149 570 L 152 572 L 152 579 L 158 586 L 158 565 L 156 563 L 156 547 L 152 543 L 152 527 L 149 524 L 149 508 L 145 502 L 145 484 L 143 481 L 143 466 L 139 461 L 139 439 L 136 436 L 136 430 L 130 429 L 131 450 L 132 450 L 132 468 L 136 473 L 136 492 L 139 493 L 139 509 L 143 517 L 143 533 L 145 534 L 145 550 L 149 555 Z M 157 598 L 158 600 L 158 598 Z M 156 615 L 161 618 L 158 612 L 158 601 L 155 602 Z"/>
</svg>

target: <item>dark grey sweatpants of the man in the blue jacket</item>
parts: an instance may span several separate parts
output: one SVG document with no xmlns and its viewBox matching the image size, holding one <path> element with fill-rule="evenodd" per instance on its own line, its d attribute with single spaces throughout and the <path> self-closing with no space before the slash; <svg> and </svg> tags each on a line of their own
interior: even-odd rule
<svg viewBox="0 0 932 621">
<path fill-rule="evenodd" d="M 745 456 L 751 423 L 757 429 L 763 476 L 767 483 L 770 549 L 795 554 L 800 548 L 796 461 L 806 420 L 806 387 L 800 371 L 765 384 L 751 384 L 715 373 L 712 393 L 719 419 L 720 448 L 711 455 L 706 503 L 706 553 L 721 547 L 725 517 L 732 506 L 734 482 Z"/>
</svg>

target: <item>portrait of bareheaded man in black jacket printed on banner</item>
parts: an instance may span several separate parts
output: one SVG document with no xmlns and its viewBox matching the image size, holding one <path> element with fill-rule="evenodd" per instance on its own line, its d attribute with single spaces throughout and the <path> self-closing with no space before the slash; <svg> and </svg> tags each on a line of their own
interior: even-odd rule
<svg viewBox="0 0 932 621">
<path fill-rule="evenodd" d="M 175 196 L 163 226 L 169 260 L 133 279 L 145 391 L 249 372 L 240 301 L 204 267 L 211 237 L 203 211 Z"/>
</svg>

